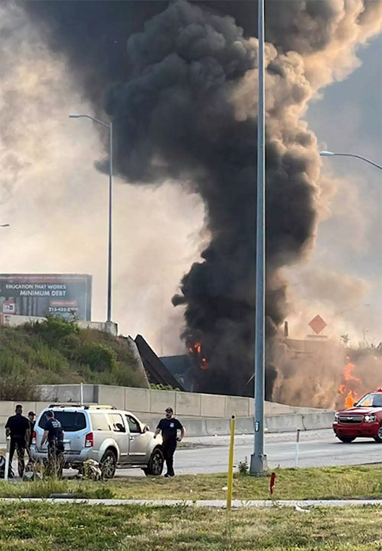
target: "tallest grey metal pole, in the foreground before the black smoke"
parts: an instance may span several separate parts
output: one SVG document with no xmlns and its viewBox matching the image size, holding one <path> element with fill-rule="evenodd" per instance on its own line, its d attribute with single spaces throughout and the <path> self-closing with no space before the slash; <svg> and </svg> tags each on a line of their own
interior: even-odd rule
<svg viewBox="0 0 382 551">
<path fill-rule="evenodd" d="M 264 112 L 264 0 L 258 0 L 259 100 L 257 118 L 256 208 L 256 322 L 254 338 L 254 451 L 250 473 L 267 471 L 264 455 L 265 383 L 265 112 Z"/>
</svg>

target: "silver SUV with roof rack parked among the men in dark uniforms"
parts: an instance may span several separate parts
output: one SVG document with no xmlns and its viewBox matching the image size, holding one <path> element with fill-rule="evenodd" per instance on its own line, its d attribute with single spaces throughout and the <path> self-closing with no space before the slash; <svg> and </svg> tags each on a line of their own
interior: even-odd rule
<svg viewBox="0 0 382 551">
<path fill-rule="evenodd" d="M 163 471 L 162 437 L 128 411 L 112 406 L 73 406 L 51 404 L 36 420 L 31 455 L 46 461 L 46 444 L 41 447 L 47 410 L 54 412 L 64 430 L 65 467 L 80 469 L 88 459 L 97 461 L 105 478 L 113 478 L 115 469 L 140 467 L 145 474 L 159 476 Z"/>
</svg>

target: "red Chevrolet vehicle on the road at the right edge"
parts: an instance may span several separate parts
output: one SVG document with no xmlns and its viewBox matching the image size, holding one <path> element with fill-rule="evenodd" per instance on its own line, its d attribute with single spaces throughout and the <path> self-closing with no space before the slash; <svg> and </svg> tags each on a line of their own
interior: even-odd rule
<svg viewBox="0 0 382 551">
<path fill-rule="evenodd" d="M 382 388 L 366 394 L 352 408 L 336 412 L 333 430 L 341 442 L 358 437 L 382 442 Z"/>
</svg>

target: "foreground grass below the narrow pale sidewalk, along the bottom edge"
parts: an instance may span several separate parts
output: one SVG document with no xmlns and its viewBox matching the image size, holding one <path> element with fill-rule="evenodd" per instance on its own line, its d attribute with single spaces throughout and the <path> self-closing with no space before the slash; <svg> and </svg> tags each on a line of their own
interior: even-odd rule
<svg viewBox="0 0 382 551">
<path fill-rule="evenodd" d="M 228 521 L 227 521 L 228 520 Z M 0 551 L 378 551 L 382 509 L 0 504 Z"/>
</svg>

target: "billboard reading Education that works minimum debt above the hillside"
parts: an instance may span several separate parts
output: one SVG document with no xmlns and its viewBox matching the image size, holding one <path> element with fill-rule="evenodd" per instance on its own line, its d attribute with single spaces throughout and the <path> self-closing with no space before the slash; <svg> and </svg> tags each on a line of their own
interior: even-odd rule
<svg viewBox="0 0 382 551">
<path fill-rule="evenodd" d="M 91 295 L 87 274 L 0 274 L 0 314 L 91 321 Z"/>
</svg>

